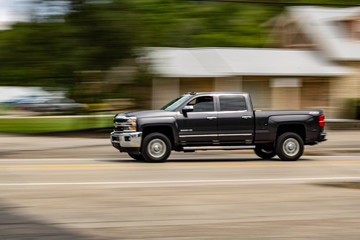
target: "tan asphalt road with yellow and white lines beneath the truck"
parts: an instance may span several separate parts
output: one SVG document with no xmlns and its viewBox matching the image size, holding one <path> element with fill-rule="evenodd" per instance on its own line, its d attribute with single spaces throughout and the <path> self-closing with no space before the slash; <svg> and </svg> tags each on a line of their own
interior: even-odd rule
<svg viewBox="0 0 360 240">
<path fill-rule="evenodd" d="M 71 138 L 38 141 L 3 148 L 0 239 L 360 239 L 360 189 L 337 186 L 360 182 L 357 153 L 283 162 L 209 151 L 149 164 L 96 140 L 83 154 Z"/>
</svg>

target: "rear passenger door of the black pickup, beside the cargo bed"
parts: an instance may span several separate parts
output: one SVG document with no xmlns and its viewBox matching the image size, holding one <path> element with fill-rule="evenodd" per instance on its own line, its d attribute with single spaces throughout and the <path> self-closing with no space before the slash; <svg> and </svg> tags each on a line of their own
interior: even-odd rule
<svg viewBox="0 0 360 240">
<path fill-rule="evenodd" d="M 226 94 L 219 96 L 218 129 L 220 143 L 252 144 L 254 113 L 246 104 L 245 96 Z"/>
</svg>

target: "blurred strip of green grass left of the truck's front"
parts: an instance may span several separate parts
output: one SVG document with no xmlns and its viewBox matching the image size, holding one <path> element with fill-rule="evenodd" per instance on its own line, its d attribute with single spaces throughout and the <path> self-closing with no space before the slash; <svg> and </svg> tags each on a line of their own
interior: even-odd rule
<svg viewBox="0 0 360 240">
<path fill-rule="evenodd" d="M 111 127 L 113 116 L 1 118 L 2 133 L 48 133 Z"/>
</svg>

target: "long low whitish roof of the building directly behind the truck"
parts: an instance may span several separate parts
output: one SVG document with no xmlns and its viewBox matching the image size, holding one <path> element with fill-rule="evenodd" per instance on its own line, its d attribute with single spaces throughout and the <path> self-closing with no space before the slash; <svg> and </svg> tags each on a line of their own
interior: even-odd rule
<svg viewBox="0 0 360 240">
<path fill-rule="evenodd" d="M 147 48 L 162 77 L 341 76 L 348 68 L 311 50 L 268 48 Z"/>
</svg>

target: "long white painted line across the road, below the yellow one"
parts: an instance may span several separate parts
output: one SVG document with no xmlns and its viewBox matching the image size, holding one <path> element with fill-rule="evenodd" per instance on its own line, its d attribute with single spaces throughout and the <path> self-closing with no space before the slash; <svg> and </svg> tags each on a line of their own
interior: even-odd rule
<svg viewBox="0 0 360 240">
<path fill-rule="evenodd" d="M 274 183 L 357 180 L 360 177 L 318 177 L 318 178 L 255 178 L 255 179 L 204 179 L 204 180 L 159 180 L 159 181 L 122 181 L 122 182 L 38 182 L 38 183 L 1 183 L 0 186 L 54 186 L 54 185 L 138 185 L 138 184 L 202 184 L 202 183 Z"/>
</svg>

